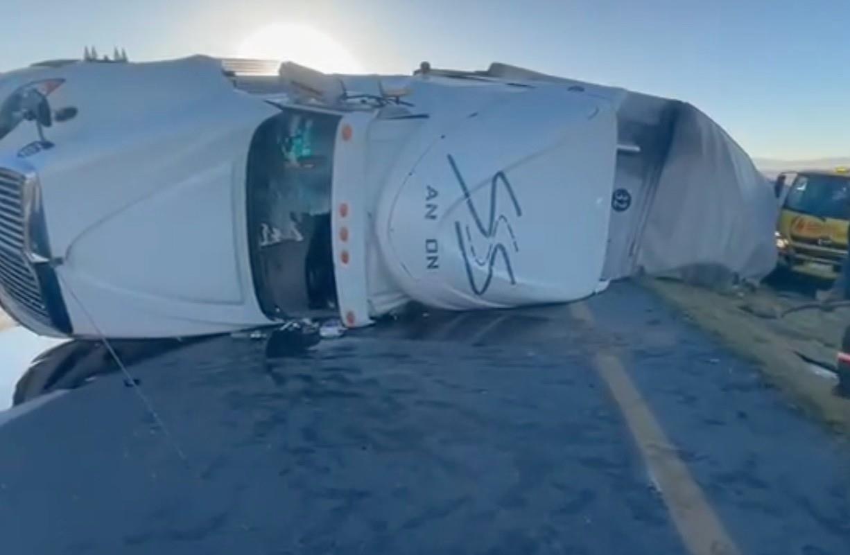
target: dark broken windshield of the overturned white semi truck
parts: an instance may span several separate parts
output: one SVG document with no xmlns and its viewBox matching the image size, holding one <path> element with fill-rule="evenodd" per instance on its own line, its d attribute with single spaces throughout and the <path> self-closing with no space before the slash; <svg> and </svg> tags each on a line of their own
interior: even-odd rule
<svg viewBox="0 0 850 555">
<path fill-rule="evenodd" d="M 331 171 L 338 117 L 284 110 L 258 127 L 248 153 L 254 288 L 271 318 L 330 308 Z"/>
</svg>

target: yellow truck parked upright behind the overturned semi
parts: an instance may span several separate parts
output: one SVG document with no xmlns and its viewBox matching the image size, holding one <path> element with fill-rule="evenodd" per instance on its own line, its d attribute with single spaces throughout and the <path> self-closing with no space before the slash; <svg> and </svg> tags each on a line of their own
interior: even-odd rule
<svg viewBox="0 0 850 555">
<path fill-rule="evenodd" d="M 850 172 L 838 168 L 783 173 L 776 190 L 782 203 L 776 230 L 779 264 L 835 280 L 847 256 Z"/>
</svg>

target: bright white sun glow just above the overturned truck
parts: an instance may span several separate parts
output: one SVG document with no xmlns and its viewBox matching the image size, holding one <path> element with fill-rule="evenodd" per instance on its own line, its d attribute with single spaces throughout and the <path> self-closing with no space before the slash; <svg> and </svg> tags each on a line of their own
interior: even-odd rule
<svg viewBox="0 0 850 555">
<path fill-rule="evenodd" d="M 360 64 L 339 42 L 301 23 L 276 23 L 254 31 L 241 43 L 241 58 L 280 59 L 326 73 L 358 73 Z"/>
</svg>

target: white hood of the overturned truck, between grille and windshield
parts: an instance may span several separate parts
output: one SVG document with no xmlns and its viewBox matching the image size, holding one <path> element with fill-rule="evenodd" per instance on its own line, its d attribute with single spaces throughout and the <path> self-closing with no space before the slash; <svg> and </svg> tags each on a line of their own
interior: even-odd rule
<svg viewBox="0 0 850 555">
<path fill-rule="evenodd" d="M 20 150 L 37 140 L 36 126 L 22 122 L 0 141 L 0 166 L 3 156 L 26 156 L 35 168 L 65 285 L 186 317 L 199 303 L 255 302 L 246 155 L 254 130 L 278 110 L 236 90 L 220 62 L 204 57 L 80 62 L 31 76 L 64 79 L 51 109 L 73 106 L 77 116 L 44 129 L 53 146 L 35 151 Z"/>
</svg>

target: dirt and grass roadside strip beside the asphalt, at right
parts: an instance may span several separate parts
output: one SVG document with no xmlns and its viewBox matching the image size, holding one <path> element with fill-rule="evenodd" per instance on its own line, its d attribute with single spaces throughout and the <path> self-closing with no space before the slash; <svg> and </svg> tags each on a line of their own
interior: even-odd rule
<svg viewBox="0 0 850 555">
<path fill-rule="evenodd" d="M 819 284 L 785 276 L 755 290 L 714 292 L 672 280 L 642 283 L 754 360 L 792 404 L 850 433 L 850 399 L 836 394 L 833 373 L 850 307 L 822 309 L 814 299 Z"/>
</svg>

